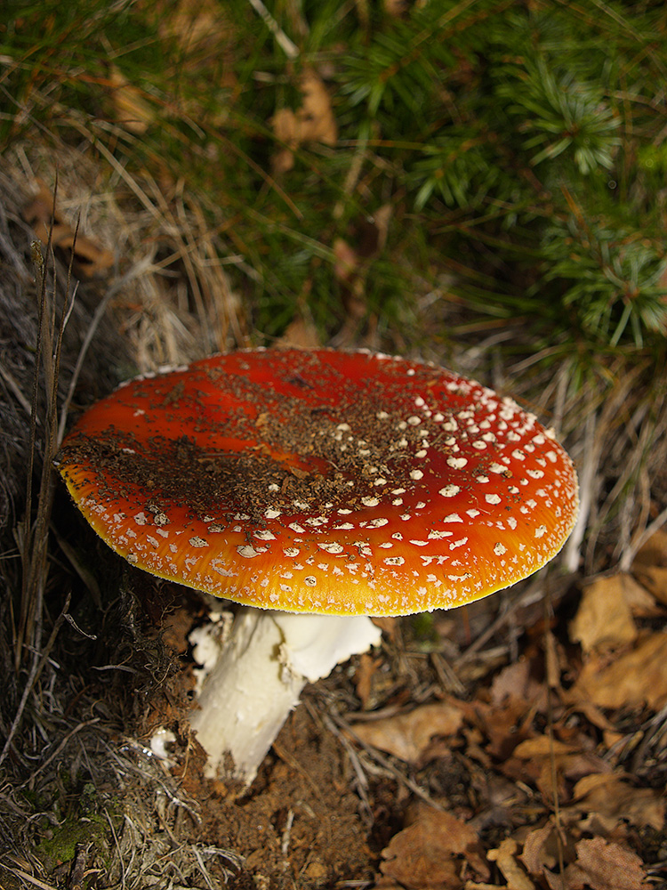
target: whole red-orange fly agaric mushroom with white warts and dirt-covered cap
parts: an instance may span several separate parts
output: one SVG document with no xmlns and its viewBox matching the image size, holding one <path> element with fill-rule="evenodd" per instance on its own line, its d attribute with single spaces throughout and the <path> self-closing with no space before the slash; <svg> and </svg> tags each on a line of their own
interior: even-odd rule
<svg viewBox="0 0 667 890">
<path fill-rule="evenodd" d="M 306 680 L 379 642 L 367 616 L 508 587 L 577 512 L 573 465 L 532 414 L 368 352 L 234 352 L 134 380 L 81 417 L 59 469 L 128 562 L 246 607 L 191 724 L 209 774 L 229 753 L 248 783 Z"/>
</svg>

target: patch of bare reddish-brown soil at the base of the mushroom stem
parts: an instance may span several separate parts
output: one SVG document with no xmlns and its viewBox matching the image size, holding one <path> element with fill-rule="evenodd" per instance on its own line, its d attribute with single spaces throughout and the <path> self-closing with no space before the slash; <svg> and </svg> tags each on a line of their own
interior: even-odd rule
<svg viewBox="0 0 667 890">
<path fill-rule="evenodd" d="M 325 887 L 373 878 L 352 780 L 341 744 L 323 730 L 317 711 L 301 707 L 244 797 L 212 787 L 197 769 L 183 787 L 200 803 L 207 841 L 243 857 L 230 886 L 282 890 L 294 882 Z"/>
</svg>

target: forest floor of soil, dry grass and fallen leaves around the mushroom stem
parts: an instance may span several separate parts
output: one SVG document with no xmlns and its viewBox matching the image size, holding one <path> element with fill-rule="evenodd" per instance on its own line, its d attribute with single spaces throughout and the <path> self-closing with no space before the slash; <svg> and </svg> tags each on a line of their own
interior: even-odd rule
<svg viewBox="0 0 667 890">
<path fill-rule="evenodd" d="M 126 333 L 148 311 L 127 297 L 120 313 Z M 83 529 L 57 490 L 57 632 L 2 767 L 4 890 L 667 886 L 663 531 L 623 572 L 611 555 L 595 577 L 557 564 L 458 611 L 382 619 L 382 648 L 309 686 L 239 789 L 204 778 L 189 734 L 205 604 Z"/>
</svg>

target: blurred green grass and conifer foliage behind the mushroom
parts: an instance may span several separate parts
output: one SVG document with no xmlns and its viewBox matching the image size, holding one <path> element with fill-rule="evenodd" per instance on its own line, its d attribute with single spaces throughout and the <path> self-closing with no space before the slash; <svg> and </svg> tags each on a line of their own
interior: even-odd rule
<svg viewBox="0 0 667 890">
<path fill-rule="evenodd" d="M 304 301 L 325 336 L 342 326 L 333 242 L 358 247 L 358 222 L 390 203 L 365 279 L 383 329 L 406 317 L 408 269 L 427 284 L 453 274 L 472 315 L 520 316 L 534 349 L 663 338 L 661 4 L 267 7 L 271 27 L 247 0 L 220 3 L 218 44 L 194 52 L 156 0 L 5 4 L 0 137 L 84 132 L 130 169 L 185 179 L 222 255 L 241 258 L 228 268 L 267 336 Z M 141 138 L 114 122 L 111 63 L 155 116 Z M 292 146 L 279 172 L 273 116 L 299 109 L 309 69 L 338 140 Z"/>
</svg>

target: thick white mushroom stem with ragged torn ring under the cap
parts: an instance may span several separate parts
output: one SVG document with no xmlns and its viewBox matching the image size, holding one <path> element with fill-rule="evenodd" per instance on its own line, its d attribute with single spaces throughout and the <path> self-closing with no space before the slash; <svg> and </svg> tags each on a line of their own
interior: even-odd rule
<svg viewBox="0 0 667 890">
<path fill-rule="evenodd" d="M 208 755 L 208 777 L 229 774 L 229 754 L 232 774 L 249 785 L 305 684 L 328 676 L 380 638 L 380 629 L 365 616 L 238 611 L 190 718 Z"/>
</svg>

